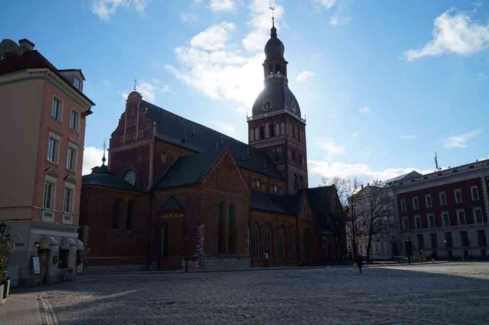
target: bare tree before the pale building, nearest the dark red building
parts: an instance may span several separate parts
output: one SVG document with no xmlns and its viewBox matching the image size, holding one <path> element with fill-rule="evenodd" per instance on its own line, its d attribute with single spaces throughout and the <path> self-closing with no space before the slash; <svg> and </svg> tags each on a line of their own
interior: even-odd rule
<svg viewBox="0 0 489 325">
<path fill-rule="evenodd" d="M 392 219 L 394 199 L 382 187 L 367 186 L 356 195 L 357 234 L 367 236 L 367 262 L 371 262 L 372 239 L 391 234 L 395 227 Z"/>
</svg>

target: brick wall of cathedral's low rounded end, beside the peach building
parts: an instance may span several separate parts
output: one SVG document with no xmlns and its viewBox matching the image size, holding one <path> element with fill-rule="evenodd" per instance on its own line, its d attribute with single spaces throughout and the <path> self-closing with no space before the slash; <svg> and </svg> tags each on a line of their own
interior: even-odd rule
<svg viewBox="0 0 489 325">
<path fill-rule="evenodd" d="M 111 229 L 112 208 L 119 201 L 118 227 Z M 133 202 L 133 227 L 126 231 L 128 202 Z M 149 195 L 82 186 L 80 225 L 82 237 L 88 226 L 87 265 L 145 264 L 148 254 Z M 101 259 L 103 258 L 103 259 Z"/>
</svg>

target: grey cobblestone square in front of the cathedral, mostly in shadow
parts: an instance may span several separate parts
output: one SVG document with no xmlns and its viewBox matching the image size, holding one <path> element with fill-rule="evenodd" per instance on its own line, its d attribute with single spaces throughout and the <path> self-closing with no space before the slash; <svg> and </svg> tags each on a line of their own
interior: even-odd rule
<svg viewBox="0 0 489 325">
<path fill-rule="evenodd" d="M 61 325 L 489 324 L 489 264 L 90 275 L 44 296 Z"/>
</svg>

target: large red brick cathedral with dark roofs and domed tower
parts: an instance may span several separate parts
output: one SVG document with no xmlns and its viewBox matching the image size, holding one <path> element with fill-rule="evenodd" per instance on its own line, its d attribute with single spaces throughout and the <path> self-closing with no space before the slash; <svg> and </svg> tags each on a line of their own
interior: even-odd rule
<svg viewBox="0 0 489 325">
<path fill-rule="evenodd" d="M 248 143 L 133 91 L 109 164 L 83 176 L 80 239 L 89 269 L 323 264 L 345 254 L 333 186 L 308 187 L 306 121 L 274 26 Z"/>
</svg>

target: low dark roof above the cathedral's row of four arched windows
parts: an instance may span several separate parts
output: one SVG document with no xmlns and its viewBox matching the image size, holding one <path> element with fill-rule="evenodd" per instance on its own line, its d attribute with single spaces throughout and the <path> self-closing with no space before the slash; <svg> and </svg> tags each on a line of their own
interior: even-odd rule
<svg viewBox="0 0 489 325">
<path fill-rule="evenodd" d="M 302 192 L 293 195 L 276 195 L 265 191 L 251 190 L 250 208 L 275 213 L 297 215 Z"/>
</svg>

